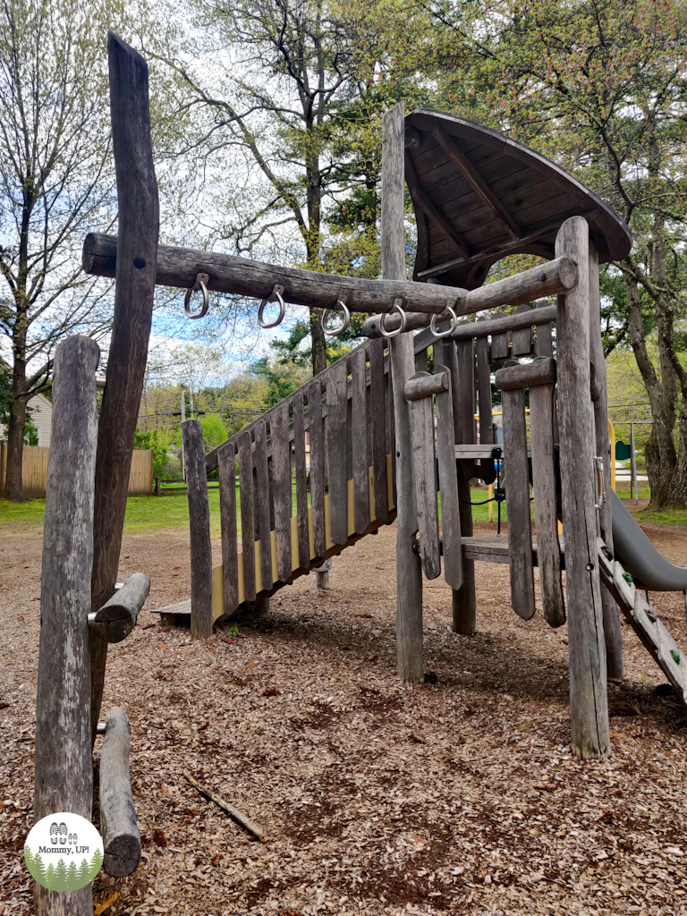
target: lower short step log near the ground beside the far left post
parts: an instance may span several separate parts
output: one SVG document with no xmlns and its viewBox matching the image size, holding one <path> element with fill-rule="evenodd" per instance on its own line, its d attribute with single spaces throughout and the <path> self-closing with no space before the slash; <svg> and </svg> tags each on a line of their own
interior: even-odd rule
<svg viewBox="0 0 687 916">
<path fill-rule="evenodd" d="M 107 874 L 114 878 L 132 875 L 141 857 L 141 835 L 129 779 L 129 720 L 119 707 L 105 716 L 100 755 L 100 831 Z"/>
</svg>

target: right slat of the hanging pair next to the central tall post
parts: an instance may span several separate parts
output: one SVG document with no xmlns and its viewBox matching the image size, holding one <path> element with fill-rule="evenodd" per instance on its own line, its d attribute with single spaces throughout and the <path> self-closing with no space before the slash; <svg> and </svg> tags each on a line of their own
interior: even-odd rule
<svg viewBox="0 0 687 916">
<path fill-rule="evenodd" d="M 437 347 L 435 361 L 440 358 Z M 435 372 L 441 364 L 435 362 Z M 454 591 L 463 585 L 463 546 L 461 544 L 461 507 L 455 467 L 455 430 L 453 428 L 453 391 L 451 373 L 448 391 L 437 395 L 437 453 L 439 488 L 442 494 L 443 577 Z"/>
</svg>

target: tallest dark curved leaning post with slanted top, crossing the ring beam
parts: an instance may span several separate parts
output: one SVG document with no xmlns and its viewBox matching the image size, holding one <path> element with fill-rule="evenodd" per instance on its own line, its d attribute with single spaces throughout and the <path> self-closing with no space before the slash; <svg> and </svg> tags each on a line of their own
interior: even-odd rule
<svg viewBox="0 0 687 916">
<path fill-rule="evenodd" d="M 147 63 L 107 37 L 114 168 L 119 205 L 116 286 L 107 381 L 98 424 L 93 515 L 92 609 L 114 592 L 122 546 L 131 453 L 146 375 L 158 259 L 158 181 L 150 140 Z M 91 637 L 91 726 L 103 700 L 107 643 Z"/>
</svg>

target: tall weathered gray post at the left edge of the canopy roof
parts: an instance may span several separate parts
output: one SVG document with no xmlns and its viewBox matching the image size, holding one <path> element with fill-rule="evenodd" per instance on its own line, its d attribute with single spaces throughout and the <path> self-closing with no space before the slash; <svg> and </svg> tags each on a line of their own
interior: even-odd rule
<svg viewBox="0 0 687 916">
<path fill-rule="evenodd" d="M 404 181 L 403 103 L 394 105 L 382 118 L 382 277 L 406 278 L 403 238 Z M 389 341 L 394 387 L 396 425 L 396 650 L 398 677 L 421 681 L 422 659 L 422 570 L 420 556 L 413 550 L 418 530 L 413 486 L 409 403 L 406 381 L 415 374 L 411 333 L 398 334 Z"/>
</svg>

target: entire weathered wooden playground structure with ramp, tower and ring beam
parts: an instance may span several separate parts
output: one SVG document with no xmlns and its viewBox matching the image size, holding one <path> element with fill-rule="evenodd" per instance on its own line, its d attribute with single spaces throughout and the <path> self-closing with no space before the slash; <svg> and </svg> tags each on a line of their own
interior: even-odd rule
<svg viewBox="0 0 687 916">
<path fill-rule="evenodd" d="M 551 162 L 507 137 L 444 114 L 420 111 L 404 118 L 398 104 L 383 121 L 382 279 L 318 274 L 158 245 L 147 65 L 113 35 L 108 48 L 118 235 L 89 235 L 83 267 L 87 273 L 116 279 L 114 333 L 97 457 L 97 357 L 76 338 L 56 365 L 57 390 L 67 391 L 69 383 L 84 399 L 82 415 L 65 430 L 64 442 L 76 448 L 78 439 L 90 456 L 83 480 L 71 488 L 89 493 L 91 499 L 84 502 L 81 497 L 81 540 L 73 547 L 82 551 L 77 564 L 81 604 L 64 618 L 61 635 L 55 617 L 45 648 L 41 636 L 39 680 L 45 688 L 38 692 L 37 818 L 50 806 L 91 816 L 88 772 L 107 641 L 125 637 L 147 594 L 145 583 L 136 580 L 126 583 L 128 603 L 113 598 L 119 594 L 114 585 L 128 463 L 156 285 L 186 289 L 190 317 L 202 317 L 213 290 L 263 300 L 263 322 L 267 302 L 278 303 L 280 318 L 286 302 L 339 311 L 344 322 L 352 311 L 370 315 L 364 344 L 213 452 L 204 453 L 198 421 L 184 424 L 192 638 L 208 638 L 220 616 L 264 601 L 395 521 L 400 678 L 419 682 L 424 675 L 423 574 L 435 579 L 443 573 L 453 594 L 453 630 L 467 635 L 476 627 L 474 562 L 507 562 L 511 605 L 518 616 L 528 620 L 535 614 L 536 565 L 546 621 L 552 627 L 567 621 L 575 754 L 603 758 L 610 752 L 606 681 L 609 674 L 620 677 L 623 672 L 617 605 L 685 699 L 682 652 L 613 551 L 598 265 L 629 250 L 627 226 L 616 213 Z M 404 180 L 418 226 L 413 280 L 406 278 Z M 490 267 L 514 253 L 546 260 L 483 286 Z M 191 309 L 194 290 L 202 295 L 200 312 Z M 556 302 L 550 304 L 553 296 Z M 465 320 L 495 308 L 515 311 Z M 493 436 L 495 364 L 500 365 L 495 380 L 503 409 L 502 446 Z M 58 407 L 56 397 L 59 416 Z M 501 461 L 507 538 L 477 538 L 470 480 L 496 481 L 503 496 Z M 206 474 L 215 468 L 223 563 L 213 570 Z M 63 477 L 60 484 L 57 464 L 50 480 L 49 499 L 59 526 L 64 524 L 60 509 L 78 494 L 57 499 L 60 486 L 66 486 Z M 530 486 L 536 539 L 531 534 Z M 48 552 L 45 556 L 49 562 Z M 44 574 L 46 632 L 52 613 L 49 596 L 60 594 L 65 583 Z M 67 630 L 81 633 L 76 657 L 57 653 L 49 661 L 49 651 L 65 639 Z M 74 711 L 72 703 L 70 714 L 60 716 L 50 688 L 64 683 L 74 670 L 81 672 L 78 708 Z M 110 714 L 107 721 L 112 722 L 113 736 L 115 729 L 120 734 L 125 730 L 119 714 Z M 125 738 L 117 752 L 121 771 L 128 753 L 127 729 Z M 81 761 L 78 798 L 68 790 L 59 767 L 48 771 L 45 761 L 41 763 L 41 747 L 60 741 Z M 127 780 L 117 785 L 104 810 L 118 811 L 124 821 L 128 816 L 126 835 L 131 836 L 136 824 L 134 816 L 131 827 L 130 788 Z M 40 793 L 39 786 L 45 787 Z M 127 855 L 133 861 L 136 850 Z M 79 891 L 78 900 L 60 909 L 60 895 L 45 891 L 38 911 L 85 913 L 89 895 L 90 889 Z"/>
</svg>

